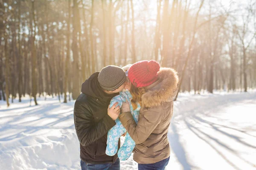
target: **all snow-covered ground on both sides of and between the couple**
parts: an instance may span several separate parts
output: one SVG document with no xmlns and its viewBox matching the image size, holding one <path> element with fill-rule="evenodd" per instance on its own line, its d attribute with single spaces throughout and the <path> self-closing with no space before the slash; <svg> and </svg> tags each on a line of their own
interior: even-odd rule
<svg viewBox="0 0 256 170">
<path fill-rule="evenodd" d="M 74 101 L 38 103 L 0 101 L 0 170 L 79 170 Z M 256 170 L 256 93 L 180 94 L 168 138 L 167 170 Z"/>
</svg>

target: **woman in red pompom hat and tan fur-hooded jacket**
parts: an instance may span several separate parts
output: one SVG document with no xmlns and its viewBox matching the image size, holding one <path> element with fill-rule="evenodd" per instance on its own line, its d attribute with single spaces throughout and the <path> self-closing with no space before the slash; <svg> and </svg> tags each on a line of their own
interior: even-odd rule
<svg viewBox="0 0 256 170">
<path fill-rule="evenodd" d="M 177 94 L 178 77 L 172 68 L 160 68 L 158 62 L 140 61 L 128 71 L 133 109 L 141 106 L 136 124 L 128 102 L 124 102 L 119 119 L 135 141 L 134 161 L 139 170 L 164 170 L 169 162 L 167 138 L 172 119 L 173 99 Z"/>
</svg>

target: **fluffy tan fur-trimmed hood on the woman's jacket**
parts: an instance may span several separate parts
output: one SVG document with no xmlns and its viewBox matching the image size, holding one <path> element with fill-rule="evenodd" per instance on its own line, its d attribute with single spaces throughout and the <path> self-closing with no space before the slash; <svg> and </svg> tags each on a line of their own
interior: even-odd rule
<svg viewBox="0 0 256 170">
<path fill-rule="evenodd" d="M 158 107 L 162 102 L 171 101 L 177 94 L 179 78 L 172 68 L 160 68 L 158 80 L 149 85 L 142 96 L 142 108 Z"/>
</svg>

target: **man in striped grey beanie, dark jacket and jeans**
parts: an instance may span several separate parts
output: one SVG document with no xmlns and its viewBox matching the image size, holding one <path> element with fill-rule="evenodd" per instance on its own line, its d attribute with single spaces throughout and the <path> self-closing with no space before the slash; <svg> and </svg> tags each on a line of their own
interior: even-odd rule
<svg viewBox="0 0 256 170">
<path fill-rule="evenodd" d="M 126 75 L 122 68 L 109 65 L 92 74 L 76 99 L 74 121 L 80 142 L 82 170 L 120 170 L 120 161 L 105 154 L 108 130 L 116 125 L 120 113 L 117 103 L 109 108 L 113 96 L 125 88 Z M 119 146 L 120 147 L 120 140 Z"/>
</svg>

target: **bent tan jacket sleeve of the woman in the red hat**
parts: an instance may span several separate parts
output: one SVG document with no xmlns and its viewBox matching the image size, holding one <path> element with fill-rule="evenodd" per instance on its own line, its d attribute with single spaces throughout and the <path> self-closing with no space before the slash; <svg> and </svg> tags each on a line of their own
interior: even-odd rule
<svg viewBox="0 0 256 170">
<path fill-rule="evenodd" d="M 138 124 L 134 121 L 131 112 L 121 113 L 119 119 L 136 144 L 145 142 L 161 121 L 160 108 L 145 109 L 139 115 Z"/>
</svg>

